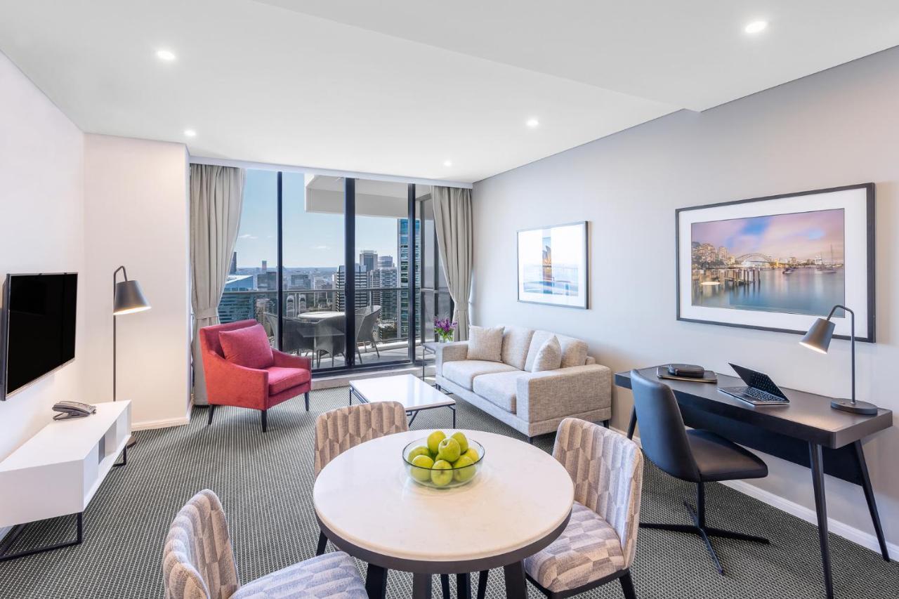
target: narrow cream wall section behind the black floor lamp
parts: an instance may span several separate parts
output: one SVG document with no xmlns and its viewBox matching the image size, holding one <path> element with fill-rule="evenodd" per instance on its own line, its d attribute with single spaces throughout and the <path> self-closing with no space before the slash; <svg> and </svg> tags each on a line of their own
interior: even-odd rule
<svg viewBox="0 0 899 599">
<path fill-rule="evenodd" d="M 85 135 L 85 398 L 111 398 L 112 273 L 124 265 L 153 307 L 118 323 L 118 397 L 138 427 L 188 417 L 187 161 L 182 144 Z"/>
</svg>

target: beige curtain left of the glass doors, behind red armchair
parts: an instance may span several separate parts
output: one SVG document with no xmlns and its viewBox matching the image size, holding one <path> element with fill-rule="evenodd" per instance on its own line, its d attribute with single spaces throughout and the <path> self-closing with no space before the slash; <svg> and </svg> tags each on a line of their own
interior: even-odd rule
<svg viewBox="0 0 899 599">
<path fill-rule="evenodd" d="M 237 240 L 245 176 L 242 168 L 191 165 L 191 353 L 193 403 L 197 406 L 209 403 L 197 331 L 218 325 L 218 301 L 225 291 Z"/>
</svg>

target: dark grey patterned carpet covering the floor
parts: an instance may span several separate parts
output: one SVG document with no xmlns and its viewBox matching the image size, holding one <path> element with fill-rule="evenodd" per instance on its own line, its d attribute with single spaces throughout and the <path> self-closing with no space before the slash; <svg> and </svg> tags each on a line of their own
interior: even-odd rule
<svg viewBox="0 0 899 599">
<path fill-rule="evenodd" d="M 347 389 L 338 388 L 314 391 L 308 413 L 301 398 L 281 404 L 269 413 L 267 434 L 257 412 L 233 407 L 218 408 L 209 428 L 206 410 L 196 408 L 188 426 L 138 432 L 128 466 L 110 473 L 85 513 L 85 542 L 0 563 L 0 597 L 161 597 L 160 556 L 169 523 L 203 487 L 216 491 L 225 505 L 243 582 L 311 557 L 318 533 L 311 501 L 313 425 L 318 414 L 346 402 Z M 445 428 L 450 422 L 449 410 L 432 410 L 418 416 L 413 428 Z M 458 426 L 521 438 L 464 401 L 458 405 Z M 536 443 L 551 451 L 552 442 L 547 435 Z M 692 488 L 651 465 L 646 468 L 643 520 L 687 523 L 681 502 Z M 711 525 L 765 535 L 772 544 L 716 540 L 726 572 L 721 577 L 698 538 L 641 531 L 633 568 L 638 596 L 823 597 L 812 525 L 721 485 L 709 486 L 708 510 Z M 36 523 L 13 549 L 61 541 L 73 533 L 74 517 Z M 840 537 L 831 535 L 831 543 L 838 598 L 899 596 L 895 562 L 887 564 Z M 409 575 L 391 572 L 388 596 L 411 596 L 411 583 Z M 502 570 L 494 570 L 488 588 L 494 599 L 505 595 Z M 436 577 L 434 596 L 441 596 Z M 530 588 L 530 597 L 542 596 Z M 613 583 L 582 596 L 622 595 Z"/>
</svg>

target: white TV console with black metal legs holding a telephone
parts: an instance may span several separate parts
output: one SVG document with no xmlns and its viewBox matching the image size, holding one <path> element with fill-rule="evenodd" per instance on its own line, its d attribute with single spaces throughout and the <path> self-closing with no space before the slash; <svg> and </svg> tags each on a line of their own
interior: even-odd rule
<svg viewBox="0 0 899 599">
<path fill-rule="evenodd" d="M 51 420 L 0 461 L 0 528 L 14 525 L 0 561 L 80 543 L 82 514 L 112 467 L 127 463 L 130 434 L 131 402 L 106 402 L 91 416 Z M 67 514 L 77 514 L 75 541 L 6 554 L 25 524 Z"/>
</svg>

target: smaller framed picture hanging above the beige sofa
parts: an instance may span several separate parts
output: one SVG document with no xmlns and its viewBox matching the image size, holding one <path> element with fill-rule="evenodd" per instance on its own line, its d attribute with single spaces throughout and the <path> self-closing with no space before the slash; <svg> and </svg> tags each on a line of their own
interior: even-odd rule
<svg viewBox="0 0 899 599">
<path fill-rule="evenodd" d="M 518 300 L 590 308 L 590 223 L 586 220 L 517 232 Z"/>
</svg>

